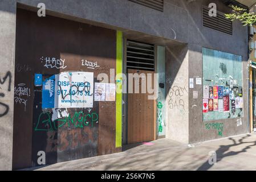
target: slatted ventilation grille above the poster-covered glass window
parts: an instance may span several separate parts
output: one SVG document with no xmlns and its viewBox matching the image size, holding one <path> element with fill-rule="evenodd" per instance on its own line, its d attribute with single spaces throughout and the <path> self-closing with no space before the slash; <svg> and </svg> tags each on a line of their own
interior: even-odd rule
<svg viewBox="0 0 256 182">
<path fill-rule="evenodd" d="M 214 30 L 224 32 L 226 34 L 233 34 L 233 24 L 231 20 L 226 19 L 223 13 L 217 12 L 217 16 L 209 16 L 209 8 L 202 8 L 203 25 Z"/>
</svg>

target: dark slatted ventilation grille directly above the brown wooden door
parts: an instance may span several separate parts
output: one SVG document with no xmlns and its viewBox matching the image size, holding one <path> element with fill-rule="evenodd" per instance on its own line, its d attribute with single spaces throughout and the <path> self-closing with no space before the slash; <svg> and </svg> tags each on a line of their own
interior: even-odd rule
<svg viewBox="0 0 256 182">
<path fill-rule="evenodd" d="M 127 68 L 155 71 L 155 48 L 151 44 L 127 41 Z"/>
</svg>

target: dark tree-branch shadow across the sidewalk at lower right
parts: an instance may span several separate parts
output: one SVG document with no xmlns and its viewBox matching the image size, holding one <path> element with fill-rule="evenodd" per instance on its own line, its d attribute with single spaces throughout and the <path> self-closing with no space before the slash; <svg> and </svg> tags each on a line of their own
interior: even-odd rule
<svg viewBox="0 0 256 182">
<path fill-rule="evenodd" d="M 216 150 L 216 154 L 217 154 L 217 163 L 220 162 L 222 159 L 228 157 L 228 156 L 233 156 L 233 155 L 238 155 L 242 152 L 247 152 L 248 149 L 250 149 L 253 146 L 256 146 L 256 141 L 255 142 L 243 142 L 244 139 L 250 137 L 250 135 L 246 135 L 245 137 L 242 137 L 241 139 L 238 140 L 238 142 L 233 139 L 233 138 L 229 138 L 229 140 L 231 140 L 233 143 L 226 145 L 226 146 L 220 146 L 218 148 L 218 150 Z M 242 148 L 241 151 L 229 151 L 231 147 L 234 146 L 239 146 L 242 144 L 246 144 L 246 143 L 251 143 L 250 145 L 245 146 L 244 148 Z M 229 151 L 229 152 L 227 152 Z M 227 152 L 227 153 L 226 153 Z M 210 165 L 208 160 L 202 164 L 202 166 L 200 166 L 197 171 L 207 171 L 209 170 L 211 167 L 213 167 L 213 165 Z"/>
</svg>

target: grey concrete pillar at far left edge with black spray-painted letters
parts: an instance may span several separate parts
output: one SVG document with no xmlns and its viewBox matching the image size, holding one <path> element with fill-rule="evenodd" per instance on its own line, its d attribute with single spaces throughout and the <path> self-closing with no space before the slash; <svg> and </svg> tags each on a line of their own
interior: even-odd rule
<svg viewBox="0 0 256 182">
<path fill-rule="evenodd" d="M 13 151 L 15 3 L 0 1 L 0 24 L 0 170 L 10 170 Z"/>
</svg>

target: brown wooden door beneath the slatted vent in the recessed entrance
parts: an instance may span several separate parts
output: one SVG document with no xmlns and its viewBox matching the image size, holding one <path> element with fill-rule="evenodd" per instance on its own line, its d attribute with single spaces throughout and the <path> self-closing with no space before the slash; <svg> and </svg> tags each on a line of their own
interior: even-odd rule
<svg viewBox="0 0 256 182">
<path fill-rule="evenodd" d="M 146 77 L 148 73 L 151 73 L 153 88 L 153 75 L 155 72 L 128 69 L 128 73 L 138 73 L 139 75 L 144 73 Z M 147 83 L 146 77 L 144 79 Z M 133 78 L 133 93 L 128 93 L 128 143 L 150 141 L 156 138 L 156 101 L 148 100 L 148 96 L 151 94 L 147 92 L 147 88 L 146 93 L 141 93 L 141 78 L 139 78 L 140 92 L 135 93 L 135 79 Z"/>
</svg>

